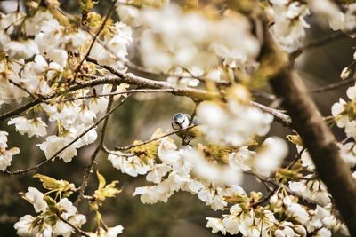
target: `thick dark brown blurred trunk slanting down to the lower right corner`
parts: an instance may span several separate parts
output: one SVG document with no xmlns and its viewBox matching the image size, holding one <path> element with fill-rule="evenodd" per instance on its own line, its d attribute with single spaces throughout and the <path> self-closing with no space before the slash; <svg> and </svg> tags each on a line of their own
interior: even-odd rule
<svg viewBox="0 0 356 237">
<path fill-rule="evenodd" d="M 334 135 L 292 65 L 287 64 L 272 76 L 270 84 L 276 95 L 283 99 L 282 105 L 292 118 L 292 128 L 303 138 L 318 175 L 335 199 L 351 236 L 356 236 L 356 180 L 339 155 Z"/>
</svg>

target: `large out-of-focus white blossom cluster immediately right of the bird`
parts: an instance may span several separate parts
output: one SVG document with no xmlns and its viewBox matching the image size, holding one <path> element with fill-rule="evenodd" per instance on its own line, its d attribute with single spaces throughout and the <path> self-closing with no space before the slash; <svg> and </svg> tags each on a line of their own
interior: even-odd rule
<svg viewBox="0 0 356 237">
<path fill-rule="evenodd" d="M 214 143 L 242 146 L 270 130 L 273 116 L 236 100 L 227 104 L 203 102 L 198 106 L 201 130 Z"/>
</svg>

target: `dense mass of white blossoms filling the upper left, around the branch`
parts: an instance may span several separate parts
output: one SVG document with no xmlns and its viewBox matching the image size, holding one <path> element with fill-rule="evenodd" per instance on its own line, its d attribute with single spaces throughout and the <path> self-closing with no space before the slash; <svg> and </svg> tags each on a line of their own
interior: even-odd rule
<svg viewBox="0 0 356 237">
<path fill-rule="evenodd" d="M 93 42 L 93 32 L 99 26 L 93 25 L 89 30 L 78 28 L 69 23 L 68 17 L 58 12 L 55 5 L 30 11 L 31 16 L 20 11 L 7 15 L 1 13 L 0 50 L 3 54 L 0 55 L 0 104 L 10 104 L 13 100 L 21 103 L 25 99 L 39 99 L 42 103 L 33 107 L 30 111 L 32 113 L 12 118 L 8 124 L 15 125 L 20 134 L 27 133 L 31 138 L 46 136 L 46 122 L 53 122 L 57 134 L 46 137 L 37 146 L 44 151 L 47 159 L 56 155 L 64 162 L 70 162 L 77 155 L 77 148 L 96 140 L 95 128 L 88 129 L 108 105 L 108 97 L 78 99 L 91 91 L 70 89 L 73 78 L 76 79 L 78 74 L 83 78 L 84 75 L 94 75 L 96 71 L 93 64 L 86 61 L 81 63 L 80 60 L 84 60 L 81 54 L 90 49 L 90 56 L 102 65 L 119 67 L 119 61 L 125 59 L 127 46 L 132 42 L 131 29 L 124 23 L 107 24 L 100 41 L 98 39 Z M 18 31 L 21 37 L 12 37 Z M 74 53 L 79 56 L 74 56 Z M 77 69 L 79 66 L 80 72 Z M 102 94 L 111 92 L 110 85 L 98 89 Z M 119 86 L 113 92 L 123 90 L 125 88 Z M 73 142 L 82 133 L 83 136 Z M 69 147 L 59 153 L 64 146 Z M 6 157 L 8 166 L 11 155 Z"/>
</svg>

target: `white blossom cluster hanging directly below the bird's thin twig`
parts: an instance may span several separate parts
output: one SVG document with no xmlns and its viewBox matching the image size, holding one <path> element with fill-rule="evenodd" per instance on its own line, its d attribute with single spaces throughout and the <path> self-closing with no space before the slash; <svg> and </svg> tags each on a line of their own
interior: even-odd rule
<svg viewBox="0 0 356 237">
<path fill-rule="evenodd" d="M 157 135 L 156 135 L 157 136 Z M 216 147 L 213 147 L 213 149 Z M 136 187 L 134 195 L 140 195 L 143 203 L 156 203 L 158 201 L 168 201 L 175 192 L 180 190 L 198 194 L 201 201 L 212 209 L 223 209 L 228 205 L 226 197 L 237 194 L 245 194 L 240 186 L 242 170 L 235 161 L 229 159 L 226 163 L 218 161 L 206 161 L 204 148 L 182 148 L 178 149 L 171 138 L 164 138 L 156 145 L 141 148 L 142 150 L 152 150 L 150 156 L 139 157 L 139 155 L 128 156 L 128 154 L 109 154 L 108 159 L 112 165 L 130 176 L 146 175 L 147 181 L 153 186 Z M 241 148 L 243 150 L 244 147 Z M 246 148 L 245 148 L 246 149 Z M 243 151 L 238 153 L 242 153 Z M 262 159 L 263 156 L 251 154 L 249 159 Z M 269 155 L 277 160 L 280 154 L 276 150 Z M 236 154 L 234 154 L 237 156 Z M 239 154 L 238 154 L 239 155 Z M 220 159 L 219 156 L 212 159 Z M 244 161 L 246 162 L 246 161 Z M 276 169 L 278 165 L 272 169 Z M 272 170 L 270 170 L 272 171 Z"/>
</svg>

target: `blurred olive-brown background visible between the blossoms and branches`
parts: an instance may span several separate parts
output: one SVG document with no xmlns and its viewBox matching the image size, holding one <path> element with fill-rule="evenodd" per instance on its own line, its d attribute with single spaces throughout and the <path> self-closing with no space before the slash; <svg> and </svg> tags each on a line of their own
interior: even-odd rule
<svg viewBox="0 0 356 237">
<path fill-rule="evenodd" d="M 17 1 L 0 1 L 0 12 L 10 12 L 16 9 Z M 79 13 L 77 1 L 61 1 L 61 6 L 67 12 Z M 109 1 L 101 0 L 96 5 L 96 11 L 104 13 L 107 11 Z M 311 28 L 307 30 L 310 41 L 320 36 L 333 34 L 326 28 L 318 26 L 312 17 L 309 19 Z M 352 46 L 355 42 L 344 36 L 333 43 L 327 43 L 324 46 L 303 53 L 297 60 L 296 67 L 304 82 L 309 89 L 318 88 L 328 83 L 340 81 L 340 72 L 343 67 L 352 61 Z M 137 72 L 135 72 L 137 73 Z M 264 91 L 270 91 L 269 88 L 263 88 Z M 337 91 L 328 91 L 313 94 L 320 111 L 323 115 L 330 115 L 332 103 L 339 97 L 344 97 L 344 88 Z M 270 101 L 258 99 L 257 101 L 268 105 Z M 0 112 L 4 113 L 12 107 L 19 105 L 1 107 Z M 170 129 L 171 116 L 177 112 L 191 114 L 194 109 L 194 103 L 190 99 L 174 97 L 170 94 L 137 94 L 128 99 L 123 107 L 110 117 L 109 129 L 106 137 L 106 146 L 109 149 L 114 146 L 126 146 L 135 139 L 146 140 L 158 128 L 163 130 Z M 40 143 L 39 138 L 28 138 L 20 136 L 14 132 L 13 126 L 8 127 L 6 122 L 0 123 L 0 130 L 7 130 L 10 134 L 9 146 L 19 146 L 21 153 L 12 160 L 12 170 L 19 170 L 35 165 L 44 160 L 44 154 L 36 146 Z M 334 130 L 336 138 L 342 139 L 342 133 Z M 52 130 L 52 132 L 54 132 Z M 285 137 L 290 130 L 286 130 L 277 123 L 273 123 L 271 134 Z M 177 143 L 181 142 L 176 138 Z M 66 179 L 69 182 L 79 186 L 85 167 L 89 163 L 90 156 L 93 153 L 93 146 L 86 146 L 79 150 L 77 158 L 66 164 L 61 161 L 50 162 L 44 165 L 38 173 L 51 176 L 57 179 Z M 290 146 L 290 158 L 295 154 L 295 148 Z M 115 199 L 109 199 L 101 208 L 101 214 L 109 226 L 123 225 L 125 227 L 123 237 L 209 237 L 217 236 L 205 228 L 205 217 L 218 217 L 221 213 L 214 212 L 207 208 L 205 204 L 198 201 L 197 196 L 188 193 L 174 194 L 167 203 L 158 203 L 155 205 L 144 205 L 139 197 L 132 197 L 134 187 L 143 186 L 144 178 L 131 178 L 122 175 L 119 170 L 112 167 L 105 154 L 100 154 L 97 159 L 97 166 L 101 174 L 105 176 L 108 182 L 119 180 L 119 186 L 123 189 L 121 194 Z M 33 207 L 24 200 L 21 200 L 19 192 L 26 192 L 28 186 L 36 186 L 44 191 L 36 178 L 31 178 L 36 171 L 20 176 L 0 175 L 0 236 L 16 236 L 13 224 L 26 214 L 34 214 Z M 93 175 L 86 189 L 86 194 L 93 194 L 97 187 L 96 177 Z M 264 192 L 263 186 L 255 181 L 255 178 L 246 177 L 242 185 L 247 192 L 260 190 Z M 72 201 L 76 198 L 73 195 Z M 88 205 L 85 201 L 81 202 L 79 211 L 88 217 L 88 222 L 84 226 L 85 230 L 90 230 L 93 219 Z"/>
</svg>

